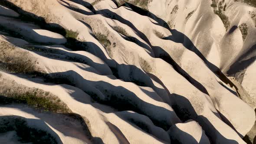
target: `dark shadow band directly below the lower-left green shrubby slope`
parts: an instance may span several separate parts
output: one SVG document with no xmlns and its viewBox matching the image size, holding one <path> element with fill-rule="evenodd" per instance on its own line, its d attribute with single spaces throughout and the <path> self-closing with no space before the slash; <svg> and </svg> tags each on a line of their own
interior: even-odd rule
<svg viewBox="0 0 256 144">
<path fill-rule="evenodd" d="M 8 108 L 20 109 L 20 108 L 22 108 L 21 107 L 22 105 L 26 105 L 26 103 L 20 103 L 20 101 L 16 100 L 15 98 L 10 98 L 10 97 L 6 97 L 6 96 L 0 96 L 0 100 L 1 100 L 0 106 L 2 106 L 2 107 L 7 105 Z M 15 105 L 15 104 L 17 104 L 17 105 Z M 25 107 L 27 107 L 27 105 Z M 23 108 L 22 111 L 30 113 L 31 115 L 35 115 L 36 113 L 38 113 L 39 115 L 36 115 L 36 117 L 40 118 L 40 121 L 42 121 L 42 123 L 46 122 L 46 123 L 50 124 L 54 129 L 56 129 L 57 131 L 60 131 L 65 136 L 75 137 L 82 141 L 86 141 L 88 143 L 96 142 L 97 144 L 103 144 L 103 141 L 101 138 L 92 136 L 92 134 L 89 130 L 89 127 L 87 126 L 87 124 L 85 122 L 85 119 L 82 118 L 81 115 L 78 115 L 75 113 L 54 113 L 54 112 L 50 112 L 50 111 L 42 111 L 40 108 L 33 108 L 33 107 L 31 107 L 31 108 L 34 111 L 31 111 L 31 109 L 27 109 L 27 108 Z M 41 113 L 43 113 L 44 115 L 40 115 Z M 72 133 L 69 131 L 63 131 L 64 127 L 61 125 L 61 123 L 64 124 L 66 122 L 68 124 L 70 121 L 76 121 L 81 124 L 81 130 L 82 130 L 81 135 L 75 134 L 75 133 Z M 66 126 L 65 129 L 67 129 L 68 127 L 71 127 L 72 125 L 65 125 L 65 126 Z M 70 131 L 73 131 L 72 127 L 69 129 L 70 129 Z M 83 137 L 82 134 L 84 134 L 87 139 L 85 139 L 85 137 Z M 59 138 L 59 136 L 57 134 L 54 137 Z"/>
</svg>

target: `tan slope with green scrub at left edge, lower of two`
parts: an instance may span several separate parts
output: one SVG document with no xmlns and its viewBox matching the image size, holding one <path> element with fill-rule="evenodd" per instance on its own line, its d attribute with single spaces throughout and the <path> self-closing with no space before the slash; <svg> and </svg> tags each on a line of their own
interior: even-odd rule
<svg viewBox="0 0 256 144">
<path fill-rule="evenodd" d="M 16 82 L 0 82 L 0 103 L 23 103 L 41 111 L 68 113 L 71 110 L 57 96 L 38 88 L 28 88 Z"/>
</svg>

